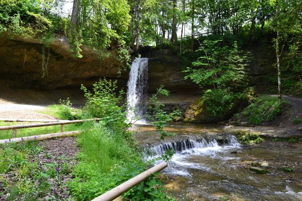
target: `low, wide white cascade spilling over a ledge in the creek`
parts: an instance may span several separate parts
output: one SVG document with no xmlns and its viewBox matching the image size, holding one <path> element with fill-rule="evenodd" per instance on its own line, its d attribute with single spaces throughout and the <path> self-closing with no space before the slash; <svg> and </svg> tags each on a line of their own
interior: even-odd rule
<svg viewBox="0 0 302 201">
<path fill-rule="evenodd" d="M 213 170 L 206 165 L 189 162 L 188 159 L 191 157 L 221 157 L 220 153 L 241 147 L 236 137 L 231 134 L 225 136 L 223 141 L 223 143 L 219 143 L 215 138 L 207 136 L 195 136 L 195 138 L 189 136 L 189 138 L 182 140 L 166 141 L 151 146 L 147 145 L 144 147 L 144 153 L 146 159 L 150 160 L 164 154 L 168 149 L 173 150 L 175 154 L 172 156 L 169 166 L 163 170 L 166 174 L 191 176 L 189 169 L 213 173 Z M 156 161 L 156 163 L 159 162 L 161 160 Z"/>
</svg>

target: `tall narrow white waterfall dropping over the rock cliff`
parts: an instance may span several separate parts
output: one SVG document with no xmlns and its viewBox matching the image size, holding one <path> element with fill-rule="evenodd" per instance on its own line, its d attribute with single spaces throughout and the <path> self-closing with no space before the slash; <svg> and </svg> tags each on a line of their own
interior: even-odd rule
<svg viewBox="0 0 302 201">
<path fill-rule="evenodd" d="M 148 58 L 135 58 L 131 65 L 127 90 L 127 119 L 144 122 L 143 102 L 147 97 Z"/>
</svg>

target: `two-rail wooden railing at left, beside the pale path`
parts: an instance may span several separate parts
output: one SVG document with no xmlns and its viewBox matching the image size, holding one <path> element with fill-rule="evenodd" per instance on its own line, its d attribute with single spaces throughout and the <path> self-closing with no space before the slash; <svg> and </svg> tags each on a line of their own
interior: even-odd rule
<svg viewBox="0 0 302 201">
<path fill-rule="evenodd" d="M 39 124 L 25 124 L 25 125 L 12 125 L 12 126 L 2 126 L 0 127 L 0 131 L 4 130 L 12 130 L 12 139 L 2 139 L 0 140 L 0 143 L 4 142 L 11 142 L 11 141 L 22 141 L 25 139 L 33 140 L 33 139 L 44 139 L 46 138 L 51 138 L 55 136 L 64 136 L 66 134 L 78 134 L 80 131 L 74 131 L 74 132 L 64 132 L 64 125 L 66 124 L 76 124 L 76 123 L 83 123 L 83 122 L 88 122 L 88 121 L 100 121 L 102 120 L 101 118 L 96 118 L 96 119 L 83 119 L 83 120 L 73 120 L 73 121 L 60 121 L 60 122 L 49 122 L 49 123 L 39 123 Z M 47 126 L 57 126 L 61 125 L 61 133 L 56 133 L 55 134 L 44 134 L 44 135 L 35 135 L 35 136 L 26 136 L 26 137 L 19 137 L 16 138 L 17 136 L 17 129 L 26 129 L 26 128 L 35 128 L 35 127 L 47 127 Z M 43 136 L 43 137 L 41 137 Z"/>
</svg>

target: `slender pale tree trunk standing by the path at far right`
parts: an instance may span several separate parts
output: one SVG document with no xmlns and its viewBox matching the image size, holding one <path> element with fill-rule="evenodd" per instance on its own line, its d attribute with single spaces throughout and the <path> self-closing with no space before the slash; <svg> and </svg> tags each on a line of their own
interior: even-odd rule
<svg viewBox="0 0 302 201">
<path fill-rule="evenodd" d="M 279 55 L 279 2 L 276 0 L 276 17 L 277 17 L 277 38 L 276 38 L 276 57 L 278 70 L 278 102 L 281 103 L 281 70 L 280 70 L 280 55 Z"/>
</svg>

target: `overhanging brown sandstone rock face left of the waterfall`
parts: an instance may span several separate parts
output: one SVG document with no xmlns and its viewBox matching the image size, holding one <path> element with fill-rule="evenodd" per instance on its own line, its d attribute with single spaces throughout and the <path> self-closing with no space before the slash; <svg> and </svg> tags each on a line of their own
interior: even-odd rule
<svg viewBox="0 0 302 201">
<path fill-rule="evenodd" d="M 120 77 L 117 72 L 123 66 L 115 58 L 117 51 L 111 50 L 110 57 L 100 62 L 99 54 L 83 47 L 81 59 L 72 56 L 69 45 L 57 39 L 45 48 L 47 74 L 42 77 L 42 44 L 36 39 L 0 38 L 0 79 L 11 87 L 55 89 L 91 85 L 100 77 L 119 79 L 122 85 L 128 73 Z M 49 53 L 49 54 L 48 54 Z"/>
</svg>

